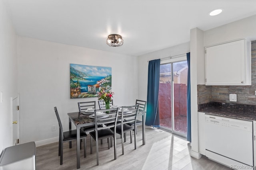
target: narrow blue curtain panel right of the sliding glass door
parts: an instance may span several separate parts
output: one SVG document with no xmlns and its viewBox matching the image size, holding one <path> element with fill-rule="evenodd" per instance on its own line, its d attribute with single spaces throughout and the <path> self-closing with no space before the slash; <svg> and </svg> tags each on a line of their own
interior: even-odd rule
<svg viewBox="0 0 256 170">
<path fill-rule="evenodd" d="M 187 89 L 187 141 L 191 142 L 191 99 L 190 99 L 190 53 L 187 53 L 188 62 L 188 89 Z"/>
</svg>

